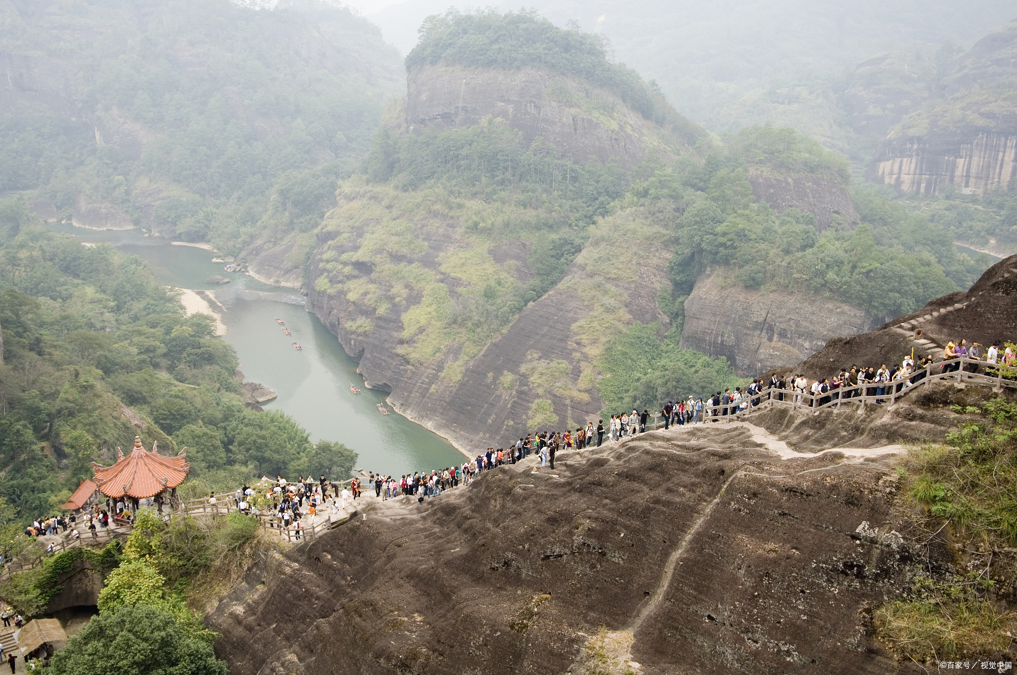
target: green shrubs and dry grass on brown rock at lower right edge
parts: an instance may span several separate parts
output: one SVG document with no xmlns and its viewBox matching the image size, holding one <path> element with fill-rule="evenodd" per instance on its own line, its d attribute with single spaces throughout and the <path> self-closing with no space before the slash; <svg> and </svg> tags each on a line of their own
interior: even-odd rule
<svg viewBox="0 0 1017 675">
<path fill-rule="evenodd" d="M 963 566 L 918 564 L 912 597 L 877 608 L 877 635 L 901 659 L 995 660 L 1017 631 L 1007 609 L 1017 588 L 1017 403 L 998 397 L 954 412 L 964 421 L 950 445 L 912 450 L 904 482 L 929 516 L 928 541 L 949 529 Z"/>
</svg>

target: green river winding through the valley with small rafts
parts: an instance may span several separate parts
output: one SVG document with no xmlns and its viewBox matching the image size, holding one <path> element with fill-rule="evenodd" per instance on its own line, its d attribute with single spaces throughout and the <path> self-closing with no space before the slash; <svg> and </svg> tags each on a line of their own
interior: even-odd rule
<svg viewBox="0 0 1017 675">
<path fill-rule="evenodd" d="M 82 242 L 107 242 L 137 255 L 164 284 L 215 290 L 216 299 L 226 309 L 222 312 L 224 339 L 236 349 L 246 380 L 279 393 L 262 407 L 288 413 L 307 429 L 313 441 L 339 441 L 353 448 L 360 454 L 357 467 L 402 476 L 463 461 L 463 454 L 437 434 L 395 412 L 381 415 L 377 404 L 384 402 L 384 394 L 364 387 L 356 361 L 314 314 L 296 304 L 303 302 L 296 291 L 268 286 L 246 274 L 230 274 L 223 264 L 212 262 L 212 251 L 174 246 L 160 237 L 144 237 L 139 230 L 93 232 L 70 225 L 49 227 L 73 234 Z M 225 286 L 205 284 L 212 274 L 233 281 Z M 283 332 L 277 318 L 286 322 L 292 336 Z M 295 350 L 293 341 L 303 350 Z M 351 383 L 361 393 L 350 391 Z"/>
</svg>

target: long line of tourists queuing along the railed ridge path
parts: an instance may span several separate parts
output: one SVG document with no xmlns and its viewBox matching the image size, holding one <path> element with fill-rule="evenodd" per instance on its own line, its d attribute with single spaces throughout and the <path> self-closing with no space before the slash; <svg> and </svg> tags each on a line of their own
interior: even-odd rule
<svg viewBox="0 0 1017 675">
<path fill-rule="evenodd" d="M 962 359 L 967 359 L 964 362 Z M 633 410 L 611 415 L 605 422 L 588 422 L 575 431 L 540 431 L 507 443 L 505 447 L 488 447 L 470 462 L 459 466 L 419 471 L 400 477 L 368 473 L 361 478 L 346 481 L 327 481 L 321 476 L 317 481 L 310 476 L 301 477 L 290 483 L 281 476 L 276 480 L 262 478 L 255 486 L 244 485 L 229 496 L 232 507 L 241 512 L 257 514 L 267 519 L 271 528 L 292 528 L 296 538 L 300 538 L 305 524 L 313 521 L 317 514 L 338 514 L 353 506 L 361 497 L 362 490 L 373 490 L 376 497 L 387 500 L 400 496 L 413 496 L 418 502 L 426 497 L 440 495 L 446 490 L 472 482 L 480 472 L 490 471 L 501 465 L 516 464 L 531 454 L 539 458 L 540 467 L 554 469 L 555 455 L 560 451 L 584 449 L 591 445 L 601 446 L 606 442 L 617 442 L 647 430 L 650 418 L 654 418 L 654 428 L 671 425 L 703 424 L 717 422 L 743 413 L 767 400 L 791 402 L 820 408 L 835 401 L 845 401 L 858 396 L 875 397 L 876 403 L 898 393 L 905 387 L 919 382 L 932 372 L 958 372 L 962 366 L 965 372 L 978 373 L 981 370 L 995 372 L 999 364 L 1017 367 L 1012 347 L 1003 347 L 996 342 L 989 349 L 965 340 L 947 344 L 943 357 L 935 361 L 921 357 L 916 361 L 906 356 L 900 364 L 851 365 L 842 367 L 829 377 L 810 380 L 803 374 L 773 374 L 764 381 L 756 378 L 746 386 L 725 388 L 706 396 L 668 401 L 661 410 L 651 414 L 648 410 Z M 215 494 L 208 496 L 208 503 L 216 504 Z M 39 518 L 25 529 L 29 537 L 60 535 L 71 531 L 80 537 L 82 531 L 97 537 L 97 531 L 112 525 L 129 525 L 132 512 L 143 505 L 153 505 L 152 499 L 136 503 L 131 499 L 107 499 L 105 504 L 88 506 L 67 515 L 53 515 Z M 115 515 L 111 515 L 111 513 Z M 2 562 L 0 558 L 0 562 Z"/>
</svg>

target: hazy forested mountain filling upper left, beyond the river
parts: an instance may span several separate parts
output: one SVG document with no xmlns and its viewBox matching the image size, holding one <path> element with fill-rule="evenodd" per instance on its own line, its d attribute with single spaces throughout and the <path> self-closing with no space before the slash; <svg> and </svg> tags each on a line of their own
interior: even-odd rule
<svg viewBox="0 0 1017 675">
<path fill-rule="evenodd" d="M 229 252 L 316 227 L 402 86 L 377 28 L 315 0 L 4 0 L 0 69 L 0 194 Z"/>
</svg>

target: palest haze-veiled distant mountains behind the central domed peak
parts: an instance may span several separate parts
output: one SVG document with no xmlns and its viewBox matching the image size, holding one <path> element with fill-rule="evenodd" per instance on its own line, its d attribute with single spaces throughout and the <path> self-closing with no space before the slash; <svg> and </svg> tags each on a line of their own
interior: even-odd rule
<svg viewBox="0 0 1017 675">
<path fill-rule="evenodd" d="M 498 4 L 502 10 L 517 8 Z M 409 52 L 424 17 L 450 5 L 472 7 L 409 0 L 368 18 L 381 26 L 385 40 Z M 1013 0 L 936 0 L 920 11 L 872 0 L 543 0 L 526 6 L 559 26 L 575 20 L 608 38 L 617 61 L 659 82 L 680 113 L 711 131 L 769 121 L 838 149 L 851 144 L 841 102 L 857 63 L 888 50 L 916 49 L 932 57 L 947 42 L 970 47 L 1017 15 Z"/>
</svg>

